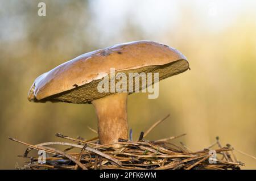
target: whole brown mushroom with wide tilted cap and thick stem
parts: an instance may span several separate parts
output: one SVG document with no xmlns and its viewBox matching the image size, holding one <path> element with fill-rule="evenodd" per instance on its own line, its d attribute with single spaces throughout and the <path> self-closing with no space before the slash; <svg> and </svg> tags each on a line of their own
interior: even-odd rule
<svg viewBox="0 0 256 181">
<path fill-rule="evenodd" d="M 28 100 L 92 103 L 97 113 L 100 144 L 112 144 L 119 138 L 127 140 L 127 96 L 132 92 L 97 89 L 98 83 L 110 75 L 111 68 L 115 73 L 159 73 L 160 81 L 189 69 L 189 64 L 178 50 L 154 41 L 117 44 L 82 54 L 40 75 L 28 92 Z"/>
</svg>

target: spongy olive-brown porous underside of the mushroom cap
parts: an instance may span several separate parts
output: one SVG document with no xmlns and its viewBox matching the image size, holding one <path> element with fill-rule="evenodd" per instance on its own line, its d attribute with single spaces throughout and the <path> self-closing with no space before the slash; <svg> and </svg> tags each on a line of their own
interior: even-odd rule
<svg viewBox="0 0 256 181">
<path fill-rule="evenodd" d="M 184 71 L 186 71 L 189 68 L 189 64 L 186 60 L 178 60 L 175 62 L 171 62 L 170 64 L 165 65 L 156 65 L 156 66 L 145 66 L 143 68 L 139 69 L 131 69 L 131 70 L 125 70 L 125 71 L 118 71 L 116 73 L 125 73 L 127 78 L 129 77 L 129 73 L 152 73 L 152 85 L 154 85 L 154 73 L 159 73 L 159 81 L 162 79 L 171 77 L 173 75 L 180 74 Z M 104 78 L 102 78 L 104 79 Z M 105 96 L 109 96 L 111 94 L 115 94 L 116 92 L 98 92 L 97 85 L 99 82 L 102 81 L 102 79 L 98 79 L 95 81 L 92 81 L 86 85 L 76 87 L 75 89 L 68 90 L 61 92 L 59 94 L 55 94 L 52 96 L 49 96 L 48 98 L 44 98 L 42 100 L 35 100 L 35 102 L 67 102 L 67 103 L 91 103 L 92 100 L 104 98 Z M 134 78 L 135 79 L 135 78 Z M 117 83 L 118 80 L 115 80 L 115 83 Z M 143 90 L 144 88 L 150 86 L 146 85 L 146 87 L 142 87 L 142 79 L 140 79 L 139 82 L 135 82 L 133 80 L 133 88 L 135 88 L 135 83 L 139 83 L 139 90 Z M 110 79 L 109 79 L 109 85 L 110 85 Z M 127 90 L 129 90 L 129 84 L 127 84 Z M 110 87 L 109 87 L 110 89 Z M 133 91 L 134 92 L 134 91 Z M 132 94 L 133 92 L 129 92 L 129 94 Z"/>
</svg>

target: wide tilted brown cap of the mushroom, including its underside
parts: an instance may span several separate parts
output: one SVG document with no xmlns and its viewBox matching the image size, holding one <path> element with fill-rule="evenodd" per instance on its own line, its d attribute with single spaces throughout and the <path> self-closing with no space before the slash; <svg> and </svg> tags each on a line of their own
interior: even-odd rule
<svg viewBox="0 0 256 181">
<path fill-rule="evenodd" d="M 161 79 L 189 68 L 178 50 L 153 41 L 133 41 L 82 54 L 35 79 L 28 100 L 90 103 L 113 93 L 97 92 L 110 68 L 116 72 L 159 72 Z"/>
</svg>

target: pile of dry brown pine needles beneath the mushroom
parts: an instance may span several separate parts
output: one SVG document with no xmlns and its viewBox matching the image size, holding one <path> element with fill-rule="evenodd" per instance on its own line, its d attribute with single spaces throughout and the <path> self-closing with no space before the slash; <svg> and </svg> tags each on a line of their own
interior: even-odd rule
<svg viewBox="0 0 256 181">
<path fill-rule="evenodd" d="M 168 115 L 169 116 L 169 115 Z M 121 148 L 112 148 L 111 144 L 98 144 L 98 137 L 91 140 L 84 140 L 81 137 L 71 138 L 57 133 L 56 136 L 64 138 L 69 142 L 44 142 L 31 145 L 25 142 L 10 138 L 12 141 L 26 145 L 28 148 L 20 156 L 29 158 L 26 165 L 17 169 L 240 169 L 245 164 L 237 161 L 231 145 L 222 147 L 220 140 L 200 151 L 192 151 L 182 142 L 180 145 L 170 141 L 178 137 L 164 138 L 156 141 L 145 140 L 144 137 L 160 124 L 164 119 L 156 122 L 145 133 L 141 132 L 138 141 L 119 140 Z M 90 128 L 91 129 L 91 128 Z M 53 145 L 68 146 L 65 150 L 52 148 Z M 217 146 L 217 149 L 213 149 Z M 79 153 L 71 153 L 73 148 L 79 148 Z M 38 157 L 29 157 L 31 150 L 44 150 L 51 156 L 46 157 L 45 163 L 39 163 Z M 214 155 L 216 154 L 216 155 Z M 216 157 L 215 157 L 216 156 Z"/>
</svg>

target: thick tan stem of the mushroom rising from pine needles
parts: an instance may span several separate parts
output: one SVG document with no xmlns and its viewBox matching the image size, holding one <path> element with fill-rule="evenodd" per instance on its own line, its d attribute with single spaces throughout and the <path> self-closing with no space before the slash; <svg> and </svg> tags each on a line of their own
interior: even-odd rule
<svg viewBox="0 0 256 181">
<path fill-rule="evenodd" d="M 98 117 L 100 144 L 118 142 L 118 138 L 128 139 L 127 96 L 128 93 L 122 92 L 92 101 Z"/>
</svg>

